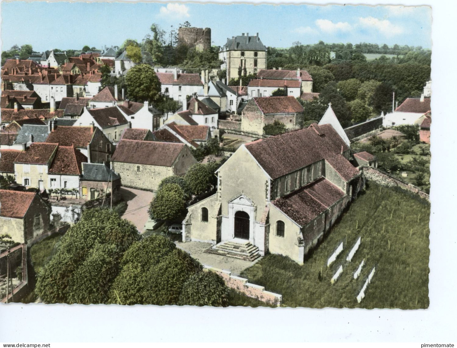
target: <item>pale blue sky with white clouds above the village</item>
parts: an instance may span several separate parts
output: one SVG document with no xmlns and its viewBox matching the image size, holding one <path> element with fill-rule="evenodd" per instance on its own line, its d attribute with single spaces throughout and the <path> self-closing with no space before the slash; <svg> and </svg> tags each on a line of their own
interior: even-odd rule
<svg viewBox="0 0 457 348">
<path fill-rule="evenodd" d="M 169 31 L 184 21 L 210 27 L 213 45 L 219 46 L 227 37 L 258 32 L 271 47 L 323 40 L 431 48 L 431 9 L 426 6 L 2 1 L 1 15 L 2 49 L 28 43 L 40 52 L 120 46 L 127 38 L 141 41 L 152 23 Z"/>
</svg>

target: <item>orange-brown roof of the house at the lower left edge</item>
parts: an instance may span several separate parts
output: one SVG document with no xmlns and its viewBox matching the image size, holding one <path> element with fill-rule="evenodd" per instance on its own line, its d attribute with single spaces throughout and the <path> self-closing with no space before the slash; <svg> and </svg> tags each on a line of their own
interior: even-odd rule
<svg viewBox="0 0 457 348">
<path fill-rule="evenodd" d="M 24 218 L 37 192 L 0 190 L 0 216 Z"/>
</svg>

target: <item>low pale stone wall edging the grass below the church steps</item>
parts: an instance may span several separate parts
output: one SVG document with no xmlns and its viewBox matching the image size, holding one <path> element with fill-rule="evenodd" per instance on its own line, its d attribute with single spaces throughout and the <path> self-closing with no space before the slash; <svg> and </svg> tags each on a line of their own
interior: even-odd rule
<svg viewBox="0 0 457 348">
<path fill-rule="evenodd" d="M 282 295 L 275 294 L 274 292 L 265 291 L 265 287 L 248 283 L 246 278 L 237 277 L 236 275 L 231 275 L 232 272 L 228 270 L 221 270 L 218 268 L 210 267 L 203 265 L 204 270 L 210 270 L 212 272 L 220 275 L 225 285 L 231 289 L 242 292 L 244 295 L 256 298 L 262 302 L 271 303 L 276 306 L 279 306 L 282 301 Z"/>
</svg>

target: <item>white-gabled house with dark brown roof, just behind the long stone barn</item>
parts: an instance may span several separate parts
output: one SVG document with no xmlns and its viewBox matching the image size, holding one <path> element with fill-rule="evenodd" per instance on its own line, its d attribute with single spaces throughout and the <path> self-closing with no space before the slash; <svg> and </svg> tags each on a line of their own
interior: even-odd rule
<svg viewBox="0 0 457 348">
<path fill-rule="evenodd" d="M 117 106 L 102 109 L 84 107 L 83 113 L 73 126 L 90 126 L 92 124 L 100 128 L 113 144 L 119 141 L 124 130 L 130 128 L 127 119 Z"/>
</svg>

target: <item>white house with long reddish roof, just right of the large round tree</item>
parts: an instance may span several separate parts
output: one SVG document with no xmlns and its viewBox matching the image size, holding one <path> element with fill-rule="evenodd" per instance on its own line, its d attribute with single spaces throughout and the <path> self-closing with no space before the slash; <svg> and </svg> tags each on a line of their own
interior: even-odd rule
<svg viewBox="0 0 457 348">
<path fill-rule="evenodd" d="M 156 73 L 161 85 L 161 93 L 175 101 L 186 104 L 186 96 L 196 95 L 203 86 L 204 76 L 198 74 Z M 203 74 L 204 75 L 204 74 Z"/>
</svg>

